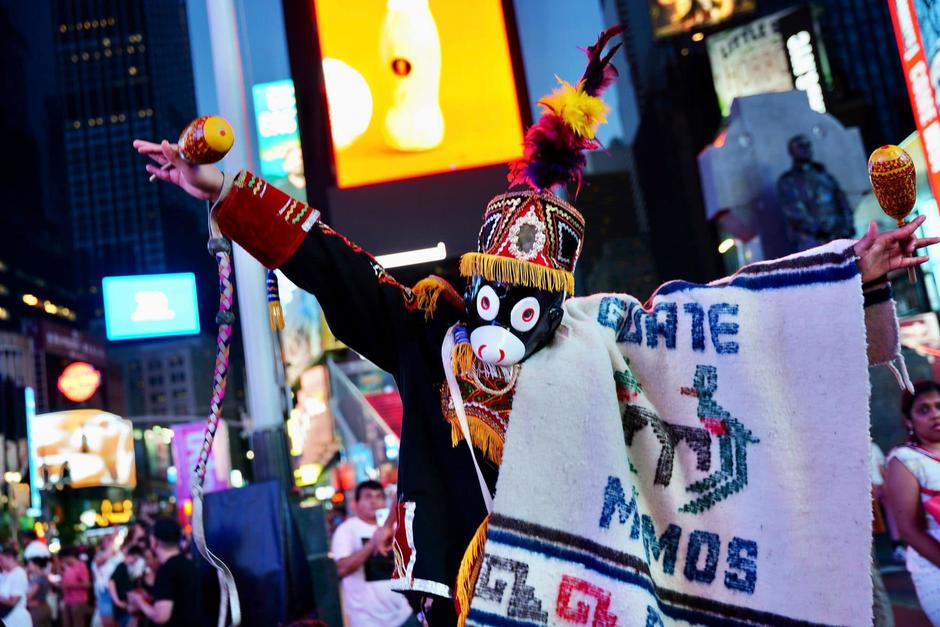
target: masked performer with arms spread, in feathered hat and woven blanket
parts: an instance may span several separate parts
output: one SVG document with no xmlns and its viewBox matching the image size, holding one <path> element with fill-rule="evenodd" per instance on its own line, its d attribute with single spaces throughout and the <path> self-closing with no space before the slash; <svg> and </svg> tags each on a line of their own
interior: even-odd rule
<svg viewBox="0 0 940 627">
<path fill-rule="evenodd" d="M 646 305 L 572 298 L 585 220 L 551 189 L 596 147 L 613 34 L 541 101 L 461 259 L 463 295 L 401 285 L 250 172 L 135 147 L 395 376 L 393 587 L 434 599 L 433 627 L 870 622 L 866 366 L 906 381 L 884 277 L 936 240 L 912 237 L 922 219 L 873 225 Z"/>
</svg>

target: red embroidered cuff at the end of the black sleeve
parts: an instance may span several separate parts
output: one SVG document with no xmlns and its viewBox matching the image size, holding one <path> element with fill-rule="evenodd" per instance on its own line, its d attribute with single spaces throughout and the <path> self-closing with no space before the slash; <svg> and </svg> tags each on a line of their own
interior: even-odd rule
<svg viewBox="0 0 940 627">
<path fill-rule="evenodd" d="M 319 211 L 247 170 L 223 192 L 216 212 L 222 233 L 272 269 L 294 255 L 320 219 Z"/>
</svg>

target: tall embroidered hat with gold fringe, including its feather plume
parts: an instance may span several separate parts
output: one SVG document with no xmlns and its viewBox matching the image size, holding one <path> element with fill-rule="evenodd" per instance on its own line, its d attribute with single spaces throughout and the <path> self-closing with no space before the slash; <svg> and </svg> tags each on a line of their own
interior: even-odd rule
<svg viewBox="0 0 940 627">
<path fill-rule="evenodd" d="M 620 48 L 610 40 L 623 30 L 610 28 L 585 52 L 588 65 L 575 85 L 561 86 L 539 100 L 542 115 L 526 132 L 523 156 L 510 164 L 511 185 L 529 189 L 510 191 L 489 202 L 477 251 L 460 259 L 460 274 L 489 281 L 574 293 L 574 267 L 584 241 L 584 217 L 551 193 L 569 182 L 581 186 L 584 151 L 600 146 L 597 127 L 606 122 L 609 108 L 600 99 L 617 77 L 610 59 Z"/>
</svg>

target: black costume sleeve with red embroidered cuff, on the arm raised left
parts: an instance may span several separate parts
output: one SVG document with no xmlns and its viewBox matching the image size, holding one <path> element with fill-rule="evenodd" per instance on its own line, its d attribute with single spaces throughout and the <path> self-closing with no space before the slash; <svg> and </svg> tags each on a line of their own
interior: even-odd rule
<svg viewBox="0 0 940 627">
<path fill-rule="evenodd" d="M 430 277 L 414 289 L 366 251 L 323 224 L 316 209 L 242 171 L 218 206 L 223 233 L 269 268 L 280 268 L 317 297 L 333 333 L 379 367 L 397 374 L 402 342 L 440 350 L 462 298 Z M 435 348 L 436 347 L 436 348 Z"/>
</svg>

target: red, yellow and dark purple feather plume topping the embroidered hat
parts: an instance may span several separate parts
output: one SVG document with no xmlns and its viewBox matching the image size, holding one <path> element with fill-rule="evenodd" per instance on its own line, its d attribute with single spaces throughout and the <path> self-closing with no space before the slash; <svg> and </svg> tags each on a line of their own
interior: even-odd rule
<svg viewBox="0 0 940 627">
<path fill-rule="evenodd" d="M 614 26 L 601 33 L 585 50 L 588 64 L 581 80 L 571 85 L 559 78 L 558 89 L 539 100 L 542 115 L 526 132 L 522 157 L 509 166 L 510 184 L 551 190 L 573 181 L 580 187 L 584 151 L 600 146 L 595 134 L 610 111 L 600 95 L 617 78 L 610 60 L 621 44 L 606 54 L 604 48 L 621 32 L 622 26 Z"/>
</svg>

